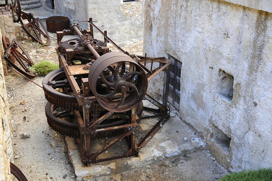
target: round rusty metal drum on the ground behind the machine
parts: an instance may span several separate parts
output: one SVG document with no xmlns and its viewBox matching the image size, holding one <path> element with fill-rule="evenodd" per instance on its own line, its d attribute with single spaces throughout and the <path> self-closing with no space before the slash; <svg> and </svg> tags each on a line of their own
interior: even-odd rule
<svg viewBox="0 0 272 181">
<path fill-rule="evenodd" d="M 57 31 L 63 31 L 64 29 L 68 29 L 70 25 L 69 18 L 65 16 L 52 16 L 46 18 L 45 21 L 47 31 L 51 33 L 56 33 Z"/>
</svg>

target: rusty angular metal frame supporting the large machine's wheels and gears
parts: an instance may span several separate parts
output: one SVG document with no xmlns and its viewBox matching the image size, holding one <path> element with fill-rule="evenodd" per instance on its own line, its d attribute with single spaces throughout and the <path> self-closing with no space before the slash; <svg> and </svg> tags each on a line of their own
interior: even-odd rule
<svg viewBox="0 0 272 181">
<path fill-rule="evenodd" d="M 92 21 L 92 18 L 89 18 L 89 23 L 90 23 L 90 30 L 83 30 L 79 28 L 79 25 L 70 25 L 70 30 L 64 30 L 64 31 L 58 31 L 57 32 L 57 44 L 56 44 L 56 51 L 58 54 L 59 62 L 60 62 L 60 67 L 63 67 L 63 70 L 65 72 L 65 75 L 69 81 L 69 84 L 73 90 L 73 94 L 76 97 L 76 100 L 79 104 L 80 107 L 83 109 L 83 117 L 79 113 L 79 110 L 73 110 L 73 116 L 75 117 L 75 120 L 77 122 L 78 130 L 81 135 L 81 138 L 77 137 L 76 142 L 79 147 L 79 152 L 81 154 L 81 159 L 83 164 L 86 166 L 90 163 L 98 163 L 102 161 L 107 161 L 107 160 L 113 160 L 113 159 L 118 159 L 118 158 L 124 158 L 128 156 L 138 156 L 139 149 L 141 147 L 144 147 L 150 140 L 151 138 L 157 133 L 157 131 L 160 129 L 160 125 L 163 125 L 168 119 L 169 119 L 169 114 L 168 111 L 169 109 L 167 108 L 167 94 L 168 94 L 168 89 L 169 89 L 169 65 L 170 61 L 166 59 L 165 57 L 160 57 L 160 58 L 152 58 L 152 57 L 147 57 L 145 56 L 139 56 L 139 55 L 134 55 L 134 54 L 129 54 L 127 51 L 122 50 L 117 44 L 115 44 L 110 38 L 107 36 L 107 31 L 102 32 L 97 28 Z M 87 34 L 90 36 L 93 36 L 93 28 L 99 31 L 104 36 L 104 47 L 96 48 L 92 47 L 92 51 L 90 50 L 73 50 L 73 49 L 66 49 L 64 50 L 61 47 L 61 41 L 63 36 L 66 35 L 80 35 L 80 36 L 85 36 Z M 159 101 L 151 97 L 149 94 L 145 95 L 145 99 L 150 101 L 152 104 L 158 107 L 158 109 L 152 109 L 152 108 L 146 108 L 144 107 L 144 110 L 147 111 L 152 111 L 156 112 L 157 115 L 154 116 L 149 116 L 149 117 L 143 117 L 144 118 L 154 118 L 154 117 L 161 117 L 160 120 L 152 127 L 152 129 L 144 136 L 142 140 L 140 140 L 139 143 L 136 143 L 135 141 L 135 132 L 136 132 L 136 126 L 138 126 L 138 123 L 136 120 L 139 119 L 139 117 L 136 115 L 135 111 L 136 108 L 132 108 L 129 110 L 129 121 L 128 123 L 124 123 L 119 126 L 112 126 L 112 127 L 105 127 L 105 128 L 99 128 L 98 125 L 107 117 L 110 115 L 114 114 L 114 112 L 105 112 L 103 116 L 101 116 L 98 119 L 91 120 L 90 116 L 92 116 L 92 110 L 91 107 L 93 104 L 97 102 L 95 96 L 89 96 L 90 92 L 90 85 L 88 84 L 88 78 L 82 78 L 81 79 L 81 89 L 78 85 L 78 82 L 75 79 L 75 75 L 84 75 L 89 73 L 89 69 L 86 68 L 84 64 L 79 64 L 79 65 L 72 65 L 71 60 L 73 57 L 76 56 L 76 54 L 86 54 L 86 53 L 92 53 L 92 54 L 105 54 L 109 52 L 109 49 L 107 47 L 107 43 L 110 42 L 112 43 L 115 48 L 117 48 L 119 51 L 122 53 L 127 54 L 130 56 L 134 61 L 144 69 L 144 71 L 147 72 L 147 82 L 151 81 L 156 75 L 160 74 L 160 72 L 164 72 L 164 95 L 163 95 L 163 103 L 161 104 Z M 87 45 L 87 44 L 86 44 Z M 95 51 L 95 52 L 93 52 Z M 95 56 L 96 57 L 96 56 Z M 159 67 L 153 68 L 153 64 L 155 62 L 159 62 Z M 151 64 L 151 68 L 148 69 L 146 67 L 146 64 Z M 133 70 L 133 64 L 128 63 L 126 65 L 129 65 L 130 71 Z M 91 66 L 91 65 L 90 65 Z M 121 96 L 121 94 L 116 95 Z M 101 150 L 91 153 L 91 141 L 92 141 L 92 135 L 94 134 L 99 134 L 103 132 L 111 132 L 111 131 L 116 131 L 116 130 L 122 130 L 123 133 L 117 136 L 112 142 L 108 143 L 104 148 Z M 113 156 L 109 158 L 99 158 L 99 155 L 103 153 L 105 150 L 109 149 L 112 145 L 117 143 L 119 140 L 123 138 L 128 138 L 129 140 L 129 148 L 127 152 L 121 156 Z"/>
</svg>

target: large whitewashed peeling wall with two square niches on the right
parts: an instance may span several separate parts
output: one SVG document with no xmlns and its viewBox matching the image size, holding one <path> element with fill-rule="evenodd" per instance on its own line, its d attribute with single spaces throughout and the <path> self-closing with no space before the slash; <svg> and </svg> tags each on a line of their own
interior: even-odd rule
<svg viewBox="0 0 272 181">
<path fill-rule="evenodd" d="M 144 2 L 144 52 L 182 62 L 180 117 L 230 170 L 272 166 L 271 18 L 220 0 Z M 232 99 L 220 93 L 225 78 Z"/>
</svg>

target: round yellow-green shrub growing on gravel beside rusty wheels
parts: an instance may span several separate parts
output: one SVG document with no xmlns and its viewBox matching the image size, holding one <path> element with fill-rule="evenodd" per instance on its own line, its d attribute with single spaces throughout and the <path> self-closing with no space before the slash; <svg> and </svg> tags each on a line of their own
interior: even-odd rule
<svg viewBox="0 0 272 181">
<path fill-rule="evenodd" d="M 38 76 L 46 76 L 48 73 L 56 70 L 57 68 L 59 68 L 59 65 L 52 64 L 49 61 L 41 61 L 30 67 L 30 71 Z"/>
</svg>

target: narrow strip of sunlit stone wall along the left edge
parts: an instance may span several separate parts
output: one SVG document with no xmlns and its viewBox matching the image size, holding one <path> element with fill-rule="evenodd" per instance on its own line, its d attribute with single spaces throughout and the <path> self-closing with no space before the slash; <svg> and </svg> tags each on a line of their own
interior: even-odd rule
<svg viewBox="0 0 272 181">
<path fill-rule="evenodd" d="M 0 28 L 2 29 L 2 27 L 5 26 L 1 26 Z M 0 36 L 2 37 L 1 29 Z M 0 43 L 0 50 L 3 52 L 2 41 Z M 0 181 L 4 181 L 11 180 L 9 162 L 13 162 L 14 156 L 12 148 L 12 125 L 8 105 L 8 95 L 5 86 L 2 56 L 0 57 L 0 122 Z"/>
</svg>

